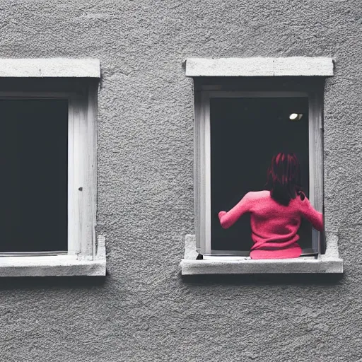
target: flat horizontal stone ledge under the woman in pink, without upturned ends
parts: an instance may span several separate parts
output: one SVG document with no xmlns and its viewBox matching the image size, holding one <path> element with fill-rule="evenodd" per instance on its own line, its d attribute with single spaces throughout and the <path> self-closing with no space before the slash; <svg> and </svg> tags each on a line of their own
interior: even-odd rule
<svg viewBox="0 0 362 362">
<path fill-rule="evenodd" d="M 343 273 L 342 259 L 240 259 L 190 260 L 182 259 L 182 275 L 197 274 L 310 274 Z"/>
</svg>

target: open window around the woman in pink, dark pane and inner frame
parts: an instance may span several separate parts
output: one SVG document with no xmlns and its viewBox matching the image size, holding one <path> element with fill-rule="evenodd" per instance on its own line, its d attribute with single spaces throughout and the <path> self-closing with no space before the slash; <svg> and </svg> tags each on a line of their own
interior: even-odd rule
<svg viewBox="0 0 362 362">
<path fill-rule="evenodd" d="M 210 206 L 203 215 L 198 211 L 203 255 L 249 255 L 250 217 L 225 230 L 218 211 L 231 209 L 249 191 L 264 189 L 271 157 L 279 151 L 296 153 L 305 194 L 322 212 L 322 102 L 317 92 L 199 91 L 198 132 L 205 156 L 199 161 L 209 163 L 199 185 Z M 315 173 L 317 180 L 312 179 Z M 302 221 L 298 235 L 303 255 L 324 252 L 325 241 L 310 223 Z"/>
</svg>

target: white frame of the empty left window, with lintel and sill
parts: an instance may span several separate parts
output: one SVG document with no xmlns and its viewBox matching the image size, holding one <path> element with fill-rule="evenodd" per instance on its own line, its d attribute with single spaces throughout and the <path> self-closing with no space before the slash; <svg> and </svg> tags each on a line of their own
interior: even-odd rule
<svg viewBox="0 0 362 362">
<path fill-rule="evenodd" d="M 50 59 L 30 59 L 35 68 L 49 67 Z M 34 62 L 37 60 L 37 62 Z M 23 68 L 34 77 L 26 59 L 21 59 Z M 0 59 L 1 63 L 15 64 L 9 59 Z M 57 64 L 57 61 L 55 61 Z M 60 71 L 49 74 L 59 77 L 80 76 L 86 78 L 87 66 L 80 59 L 62 59 Z M 57 69 L 56 64 L 52 64 Z M 82 67 L 83 65 L 83 67 Z M 68 66 L 68 70 L 66 68 Z M 74 68 L 75 66 L 75 68 Z M 81 71 L 78 71 L 81 66 Z M 91 60 L 91 72 L 88 78 L 98 78 L 96 68 L 99 61 Z M 64 68 L 66 71 L 64 71 Z M 37 71 L 38 71 L 37 69 Z M 52 69 L 52 71 L 54 71 Z M 75 73 L 74 73 L 75 72 Z M 78 73 L 77 73 L 78 72 Z M 28 74 L 27 73 L 27 74 Z M 43 74 L 45 71 L 43 72 Z M 15 72 L 18 76 L 23 73 Z M 1 76 L 1 74 L 0 74 Z M 9 74 L 6 74 L 9 76 Z M 11 76 L 14 76 L 11 74 Z M 32 80 L 36 85 L 37 80 Z M 96 235 L 97 206 L 97 99 L 98 81 L 83 79 L 81 90 L 78 88 L 57 90 L 52 86 L 49 91 L 0 91 L 1 99 L 66 99 L 68 100 L 68 250 L 62 252 L 8 252 L 0 253 L 0 276 L 104 276 L 105 275 L 105 238 Z M 55 84 L 56 81 L 54 82 Z"/>
</svg>

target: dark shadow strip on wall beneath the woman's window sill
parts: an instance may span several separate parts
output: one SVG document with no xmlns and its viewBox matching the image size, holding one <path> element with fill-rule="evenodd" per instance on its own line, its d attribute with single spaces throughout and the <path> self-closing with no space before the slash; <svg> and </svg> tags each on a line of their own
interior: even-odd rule
<svg viewBox="0 0 362 362">
<path fill-rule="evenodd" d="M 208 274 L 208 275 L 187 275 L 180 279 L 190 286 L 293 286 L 293 285 L 316 285 L 336 286 L 342 284 L 344 274 Z"/>
</svg>

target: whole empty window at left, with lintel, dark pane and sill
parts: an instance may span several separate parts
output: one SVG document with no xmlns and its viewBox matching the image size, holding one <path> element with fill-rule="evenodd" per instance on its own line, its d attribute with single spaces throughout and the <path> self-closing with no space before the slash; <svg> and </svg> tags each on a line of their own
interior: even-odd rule
<svg viewBox="0 0 362 362">
<path fill-rule="evenodd" d="M 0 276 L 104 275 L 104 238 L 95 235 L 99 62 L 5 64 Z"/>
</svg>

